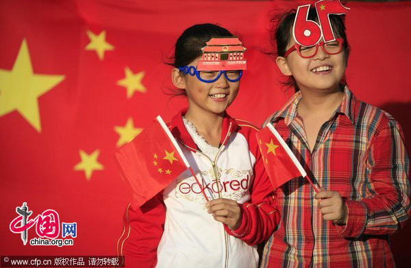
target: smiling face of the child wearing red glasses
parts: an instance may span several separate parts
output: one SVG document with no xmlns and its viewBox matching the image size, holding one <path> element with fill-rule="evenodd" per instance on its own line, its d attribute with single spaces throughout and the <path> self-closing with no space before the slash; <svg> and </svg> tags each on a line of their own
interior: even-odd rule
<svg viewBox="0 0 411 268">
<path fill-rule="evenodd" d="M 295 45 L 294 38 L 286 49 Z M 345 51 L 336 55 L 328 55 L 322 47 L 312 58 L 302 58 L 297 51 L 292 51 L 286 58 L 278 57 L 277 66 L 284 75 L 292 75 L 300 90 L 331 90 L 339 91 L 347 60 Z"/>
</svg>

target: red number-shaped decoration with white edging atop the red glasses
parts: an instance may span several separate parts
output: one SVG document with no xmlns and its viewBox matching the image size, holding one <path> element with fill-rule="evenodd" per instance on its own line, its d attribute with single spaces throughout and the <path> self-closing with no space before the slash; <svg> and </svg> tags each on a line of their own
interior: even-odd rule
<svg viewBox="0 0 411 268">
<path fill-rule="evenodd" d="M 340 0 L 321 0 L 315 3 L 315 8 L 319 23 L 308 19 L 310 5 L 300 5 L 297 8 L 295 21 L 292 25 L 292 36 L 295 42 L 303 47 L 316 45 L 321 38 L 324 38 L 324 42 L 335 40 L 329 15 L 345 14 L 349 10 L 340 3 Z"/>
</svg>

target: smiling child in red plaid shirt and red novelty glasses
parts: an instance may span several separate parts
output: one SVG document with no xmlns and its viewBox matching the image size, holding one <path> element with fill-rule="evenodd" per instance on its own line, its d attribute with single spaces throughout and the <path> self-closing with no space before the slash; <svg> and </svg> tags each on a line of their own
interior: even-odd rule
<svg viewBox="0 0 411 268">
<path fill-rule="evenodd" d="M 277 66 L 296 93 L 267 122 L 320 191 L 303 178 L 277 188 L 282 217 L 262 267 L 394 267 L 388 235 L 410 217 L 401 127 L 347 88 L 344 15 L 329 16 L 336 40 L 301 47 L 292 36 L 295 14 L 279 19 L 273 40 Z M 318 21 L 315 10 L 308 20 Z"/>
</svg>

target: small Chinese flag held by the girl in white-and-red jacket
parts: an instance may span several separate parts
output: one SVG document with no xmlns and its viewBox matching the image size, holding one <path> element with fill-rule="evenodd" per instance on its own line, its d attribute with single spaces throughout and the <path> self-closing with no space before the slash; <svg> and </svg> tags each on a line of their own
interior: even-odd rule
<svg viewBox="0 0 411 268">
<path fill-rule="evenodd" d="M 190 167 L 160 116 L 133 141 L 121 147 L 116 158 L 123 180 L 132 191 L 134 208 L 145 204 Z"/>
</svg>

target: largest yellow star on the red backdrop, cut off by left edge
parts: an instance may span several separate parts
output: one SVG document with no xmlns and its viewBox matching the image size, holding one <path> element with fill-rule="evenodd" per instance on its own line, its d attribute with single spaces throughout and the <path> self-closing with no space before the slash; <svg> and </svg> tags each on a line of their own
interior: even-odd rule
<svg viewBox="0 0 411 268">
<path fill-rule="evenodd" d="M 33 73 L 27 41 L 23 39 L 12 71 L 0 69 L 0 117 L 17 110 L 41 132 L 38 97 L 64 80 L 64 75 Z"/>
</svg>

